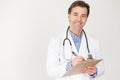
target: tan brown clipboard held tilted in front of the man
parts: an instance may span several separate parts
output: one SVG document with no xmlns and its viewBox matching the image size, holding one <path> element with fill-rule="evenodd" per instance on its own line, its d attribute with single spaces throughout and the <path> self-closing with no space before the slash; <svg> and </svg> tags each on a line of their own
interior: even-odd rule
<svg viewBox="0 0 120 80">
<path fill-rule="evenodd" d="M 84 68 L 86 68 L 87 66 L 95 66 L 100 61 L 102 61 L 102 59 L 98 59 L 98 60 L 88 59 L 88 60 L 85 60 L 85 61 L 81 62 L 80 64 L 76 65 L 71 70 L 67 71 L 63 75 L 63 77 L 71 76 L 71 75 L 75 75 L 75 74 L 81 74 L 81 73 L 83 73 Z"/>
</svg>

